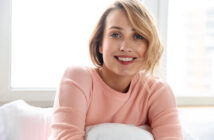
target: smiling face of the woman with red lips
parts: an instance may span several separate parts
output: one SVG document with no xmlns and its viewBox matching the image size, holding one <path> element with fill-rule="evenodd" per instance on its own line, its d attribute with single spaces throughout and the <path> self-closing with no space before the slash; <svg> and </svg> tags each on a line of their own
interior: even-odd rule
<svg viewBox="0 0 214 140">
<path fill-rule="evenodd" d="M 113 10 L 106 18 L 102 44 L 103 69 L 120 76 L 133 76 L 143 66 L 146 40 L 132 27 L 126 13 Z"/>
</svg>

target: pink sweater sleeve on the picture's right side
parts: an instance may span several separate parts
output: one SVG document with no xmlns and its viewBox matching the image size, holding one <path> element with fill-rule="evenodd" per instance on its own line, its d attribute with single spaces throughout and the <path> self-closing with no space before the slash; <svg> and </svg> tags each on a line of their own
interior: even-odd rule
<svg viewBox="0 0 214 140">
<path fill-rule="evenodd" d="M 155 140 L 183 140 L 175 97 L 167 83 L 152 85 L 148 117 Z"/>
</svg>

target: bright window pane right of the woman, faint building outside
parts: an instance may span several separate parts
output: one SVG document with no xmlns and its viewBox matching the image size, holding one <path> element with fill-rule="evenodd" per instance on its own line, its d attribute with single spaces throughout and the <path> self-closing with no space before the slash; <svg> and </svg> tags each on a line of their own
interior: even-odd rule
<svg viewBox="0 0 214 140">
<path fill-rule="evenodd" d="M 167 80 L 177 96 L 214 96 L 214 1 L 168 6 Z"/>
</svg>

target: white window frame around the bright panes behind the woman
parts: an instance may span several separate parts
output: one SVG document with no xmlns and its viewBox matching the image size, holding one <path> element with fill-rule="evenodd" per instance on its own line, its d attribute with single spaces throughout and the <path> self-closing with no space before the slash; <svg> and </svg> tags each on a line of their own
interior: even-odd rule
<svg viewBox="0 0 214 140">
<path fill-rule="evenodd" d="M 161 60 L 161 75 L 166 77 L 167 53 L 167 13 L 168 0 L 150 0 L 153 14 L 157 17 L 157 24 L 165 51 Z M 148 3 L 148 1 L 145 1 Z M 12 89 L 11 75 L 11 15 L 12 0 L 0 1 L 0 105 L 13 100 L 23 99 L 40 107 L 53 105 L 56 90 L 54 89 Z M 178 106 L 214 106 L 214 96 L 176 96 Z"/>
</svg>

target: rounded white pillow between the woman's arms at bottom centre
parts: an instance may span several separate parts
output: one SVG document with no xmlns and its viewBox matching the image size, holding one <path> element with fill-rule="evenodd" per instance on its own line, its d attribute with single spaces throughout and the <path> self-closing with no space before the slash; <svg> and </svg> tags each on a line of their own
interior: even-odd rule
<svg viewBox="0 0 214 140">
<path fill-rule="evenodd" d="M 86 128 L 87 140 L 154 140 L 149 127 L 103 123 Z"/>
</svg>

